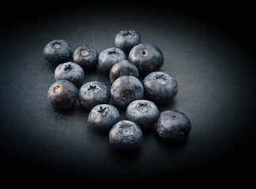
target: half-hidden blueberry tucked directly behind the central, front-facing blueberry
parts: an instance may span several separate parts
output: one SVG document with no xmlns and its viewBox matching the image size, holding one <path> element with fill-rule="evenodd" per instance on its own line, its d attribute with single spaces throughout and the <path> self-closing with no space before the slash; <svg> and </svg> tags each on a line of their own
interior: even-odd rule
<svg viewBox="0 0 256 189">
<path fill-rule="evenodd" d="M 138 78 L 139 72 L 137 67 L 128 60 L 118 61 L 109 72 L 109 80 L 113 83 L 120 76 L 135 76 Z"/>
</svg>

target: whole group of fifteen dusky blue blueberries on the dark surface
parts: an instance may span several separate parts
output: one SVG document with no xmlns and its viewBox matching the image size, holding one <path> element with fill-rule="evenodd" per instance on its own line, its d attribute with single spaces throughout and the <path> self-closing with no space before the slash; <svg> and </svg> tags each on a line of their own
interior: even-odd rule
<svg viewBox="0 0 256 189">
<path fill-rule="evenodd" d="M 157 71 L 164 64 L 164 56 L 157 46 L 141 43 L 137 31 L 120 31 L 115 35 L 115 47 L 100 54 L 92 46 L 80 46 L 72 53 L 65 40 L 51 41 L 43 54 L 57 66 L 56 82 L 47 93 L 51 106 L 70 109 L 78 98 L 80 105 L 90 110 L 88 123 L 99 132 L 108 132 L 115 149 L 137 149 L 143 139 L 141 129 L 155 123 L 158 135 L 171 142 L 181 141 L 190 133 L 190 120 L 184 113 L 159 113 L 156 104 L 171 102 L 178 84 L 167 72 Z M 83 83 L 84 70 L 96 65 L 109 74 L 111 90 L 100 81 Z M 142 82 L 139 75 L 145 76 Z M 127 120 L 119 120 L 119 110 L 107 104 L 110 98 L 126 109 Z"/>
</svg>

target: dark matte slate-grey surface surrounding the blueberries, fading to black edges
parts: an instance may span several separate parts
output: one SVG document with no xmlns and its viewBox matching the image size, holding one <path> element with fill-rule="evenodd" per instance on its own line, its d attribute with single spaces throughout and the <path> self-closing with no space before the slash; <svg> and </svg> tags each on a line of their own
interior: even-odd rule
<svg viewBox="0 0 256 189">
<path fill-rule="evenodd" d="M 13 9 L 13 7 L 18 9 Z M 43 2 L 6 4 L 1 13 L 1 180 L 13 183 L 95 183 L 138 186 L 156 183 L 243 183 L 255 169 L 255 28 L 250 4 L 163 2 Z M 178 145 L 165 143 L 155 126 L 144 131 L 139 150 L 121 154 L 107 135 L 87 124 L 77 105 L 52 109 L 47 90 L 55 67 L 43 47 L 65 39 L 72 50 L 88 44 L 100 53 L 115 46 L 115 34 L 132 28 L 142 43 L 164 54 L 160 69 L 179 84 L 174 101 L 192 130 Z M 143 78 L 140 78 L 143 80 Z M 100 80 L 98 69 L 85 82 Z M 110 102 L 114 104 L 114 102 Z M 125 119 L 125 109 L 119 109 Z"/>
</svg>

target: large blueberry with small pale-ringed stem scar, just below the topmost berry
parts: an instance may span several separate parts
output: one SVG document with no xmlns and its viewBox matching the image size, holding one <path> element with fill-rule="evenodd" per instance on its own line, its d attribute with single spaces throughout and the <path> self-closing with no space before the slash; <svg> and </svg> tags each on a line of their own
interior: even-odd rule
<svg viewBox="0 0 256 189">
<path fill-rule="evenodd" d="M 130 50 L 129 60 L 137 66 L 141 76 L 155 72 L 164 64 L 164 55 L 153 44 L 140 43 Z"/>
</svg>

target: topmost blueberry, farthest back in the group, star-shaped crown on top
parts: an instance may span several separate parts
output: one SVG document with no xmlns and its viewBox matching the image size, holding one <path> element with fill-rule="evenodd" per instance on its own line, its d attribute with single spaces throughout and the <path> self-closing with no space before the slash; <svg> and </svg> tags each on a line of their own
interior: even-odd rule
<svg viewBox="0 0 256 189">
<path fill-rule="evenodd" d="M 120 48 L 125 54 L 137 44 L 141 43 L 141 36 L 137 31 L 126 29 L 115 35 L 115 46 Z"/>
</svg>

